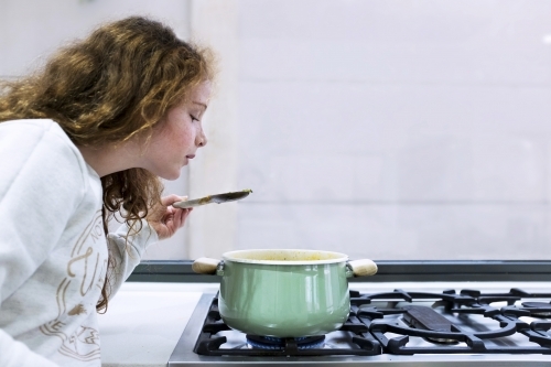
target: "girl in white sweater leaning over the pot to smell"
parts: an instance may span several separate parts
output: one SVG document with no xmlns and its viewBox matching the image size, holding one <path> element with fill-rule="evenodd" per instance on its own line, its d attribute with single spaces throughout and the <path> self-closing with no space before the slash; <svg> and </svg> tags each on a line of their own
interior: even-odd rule
<svg viewBox="0 0 551 367">
<path fill-rule="evenodd" d="M 97 312 L 190 214 L 159 177 L 206 144 L 212 64 L 132 17 L 2 83 L 0 366 L 100 366 Z"/>
</svg>

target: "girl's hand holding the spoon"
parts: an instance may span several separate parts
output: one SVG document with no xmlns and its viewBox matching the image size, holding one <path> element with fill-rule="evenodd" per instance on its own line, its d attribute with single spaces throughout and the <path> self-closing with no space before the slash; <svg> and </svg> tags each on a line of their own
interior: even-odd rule
<svg viewBox="0 0 551 367">
<path fill-rule="evenodd" d="M 172 204 L 185 199 L 187 199 L 187 196 L 164 196 L 161 198 L 162 205 L 155 205 L 150 209 L 145 219 L 156 231 L 159 239 L 172 237 L 184 225 L 192 208 L 181 209 L 173 207 Z"/>
</svg>

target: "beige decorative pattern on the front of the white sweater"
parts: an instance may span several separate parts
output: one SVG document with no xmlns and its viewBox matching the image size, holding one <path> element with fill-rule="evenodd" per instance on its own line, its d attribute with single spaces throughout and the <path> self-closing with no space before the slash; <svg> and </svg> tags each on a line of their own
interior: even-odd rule
<svg viewBox="0 0 551 367">
<path fill-rule="evenodd" d="M 83 361 L 100 358 L 99 333 L 96 328 L 86 325 L 80 325 L 67 333 L 65 326 L 72 324 L 72 317 L 96 312 L 96 302 L 107 271 L 107 258 L 98 251 L 102 247 L 106 248 L 107 244 L 101 211 L 98 211 L 73 247 L 72 258 L 66 268 L 67 276 L 57 287 L 57 317 L 40 327 L 43 334 L 62 339 L 63 343 L 58 349 L 61 354 Z M 77 293 L 79 295 L 77 299 L 83 300 L 89 292 L 98 294 L 97 298 L 91 298 L 94 302 L 69 304 L 71 294 Z"/>
</svg>

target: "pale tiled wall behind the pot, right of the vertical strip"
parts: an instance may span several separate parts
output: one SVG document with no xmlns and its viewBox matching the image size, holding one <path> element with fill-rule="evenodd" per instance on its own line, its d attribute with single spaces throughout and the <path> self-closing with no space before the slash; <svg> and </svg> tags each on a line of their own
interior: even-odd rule
<svg viewBox="0 0 551 367">
<path fill-rule="evenodd" d="M 551 256 L 551 2 L 239 2 L 238 248 Z"/>
</svg>

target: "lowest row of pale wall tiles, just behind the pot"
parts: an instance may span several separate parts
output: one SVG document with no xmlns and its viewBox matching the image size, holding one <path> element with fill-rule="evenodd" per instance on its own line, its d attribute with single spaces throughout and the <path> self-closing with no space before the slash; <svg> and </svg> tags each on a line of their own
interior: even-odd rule
<svg viewBox="0 0 551 367">
<path fill-rule="evenodd" d="M 549 213 L 541 205 L 258 203 L 239 209 L 239 244 L 247 248 L 300 246 L 374 259 L 540 259 L 536 251 L 543 258 L 549 253 Z"/>
</svg>

